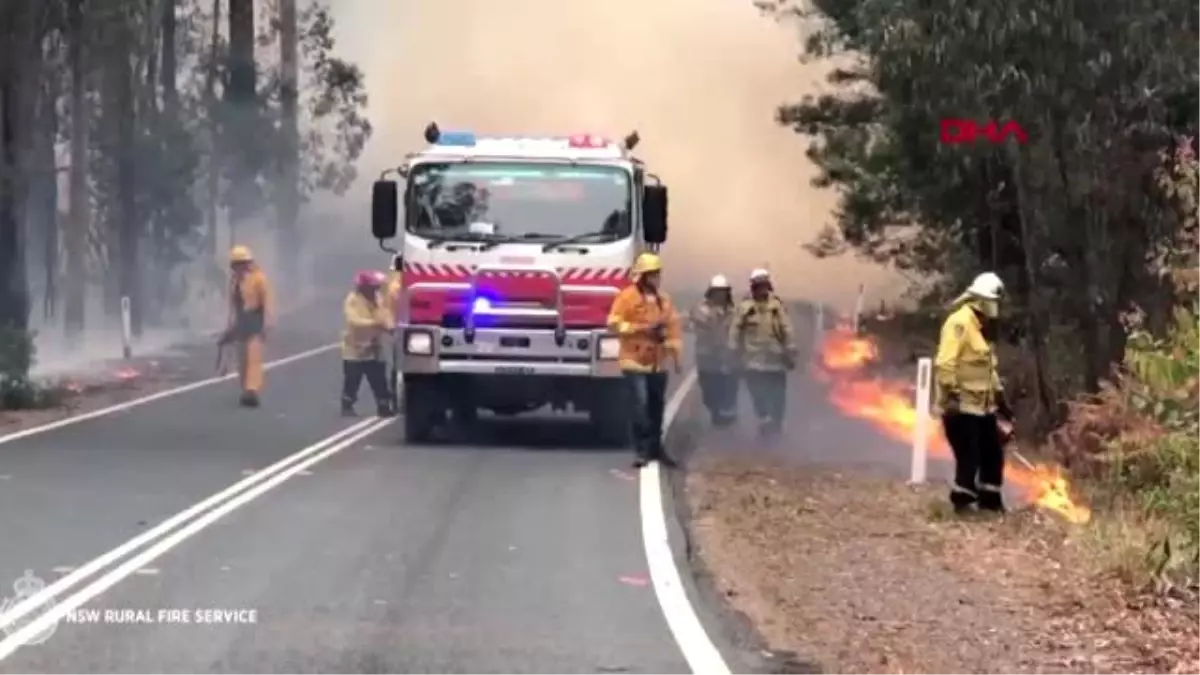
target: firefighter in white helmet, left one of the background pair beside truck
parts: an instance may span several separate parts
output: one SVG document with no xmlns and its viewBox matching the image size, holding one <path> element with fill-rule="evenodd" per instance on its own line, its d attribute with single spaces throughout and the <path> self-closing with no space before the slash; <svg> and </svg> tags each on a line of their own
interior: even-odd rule
<svg viewBox="0 0 1200 675">
<path fill-rule="evenodd" d="M 737 420 L 738 380 L 728 350 L 733 289 L 724 275 L 709 281 L 703 301 L 691 310 L 688 319 L 696 334 L 696 370 L 704 407 L 713 426 L 728 426 Z"/>
</svg>

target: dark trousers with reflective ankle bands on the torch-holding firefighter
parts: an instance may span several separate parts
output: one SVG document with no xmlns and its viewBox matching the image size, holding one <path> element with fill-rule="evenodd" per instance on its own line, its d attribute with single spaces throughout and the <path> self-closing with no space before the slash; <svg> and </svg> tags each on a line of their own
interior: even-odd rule
<svg viewBox="0 0 1200 675">
<path fill-rule="evenodd" d="M 950 503 L 956 509 L 978 504 L 985 510 L 1003 510 L 1004 447 L 1000 442 L 996 416 L 946 414 L 942 428 L 954 450 Z"/>
</svg>

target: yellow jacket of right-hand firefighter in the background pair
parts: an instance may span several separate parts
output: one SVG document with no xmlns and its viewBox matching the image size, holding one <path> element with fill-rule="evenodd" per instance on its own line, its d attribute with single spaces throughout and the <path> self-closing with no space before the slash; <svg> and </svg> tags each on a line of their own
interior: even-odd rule
<svg viewBox="0 0 1200 675">
<path fill-rule="evenodd" d="M 746 370 L 786 371 L 796 368 L 798 350 L 787 307 L 775 295 L 742 300 L 730 323 L 728 347 Z"/>
</svg>

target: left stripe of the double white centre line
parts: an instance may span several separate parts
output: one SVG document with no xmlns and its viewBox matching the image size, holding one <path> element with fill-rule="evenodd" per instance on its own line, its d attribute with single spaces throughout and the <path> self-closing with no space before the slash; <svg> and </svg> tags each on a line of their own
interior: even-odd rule
<svg viewBox="0 0 1200 675">
<path fill-rule="evenodd" d="M 338 441 L 348 436 L 352 436 L 361 431 L 362 429 L 370 428 L 376 422 L 378 422 L 378 418 L 367 418 L 360 420 L 358 424 L 350 425 L 338 431 L 337 434 L 334 434 L 328 438 L 313 443 L 312 446 L 308 446 L 307 448 L 295 454 L 288 455 L 281 459 L 280 461 L 272 464 L 271 466 L 268 466 L 266 468 L 247 478 L 244 478 L 238 483 L 234 483 L 233 485 L 226 488 L 224 490 L 221 490 L 220 492 L 212 495 L 211 497 L 204 500 L 203 502 L 176 513 L 175 515 L 160 522 L 151 530 L 146 530 L 145 532 L 138 534 L 137 537 L 130 539 L 128 542 L 125 542 L 124 544 L 116 546 L 115 549 L 108 551 L 107 554 L 92 560 L 91 562 L 84 563 L 82 567 L 70 571 L 70 574 L 67 574 L 66 577 L 48 585 L 41 592 L 34 593 L 32 596 L 25 598 L 20 603 L 17 603 L 8 611 L 0 615 L 0 629 L 20 620 L 20 617 L 25 616 L 30 611 L 34 611 L 38 609 L 38 607 L 44 605 L 44 603 L 53 602 L 54 597 L 58 596 L 59 593 L 70 590 L 72 586 L 79 584 L 80 581 L 86 580 L 89 577 L 96 574 L 101 569 L 104 569 L 113 562 L 130 555 L 131 552 L 146 545 L 148 543 L 158 539 L 161 537 L 164 537 L 172 530 L 200 515 L 205 510 L 209 510 L 210 508 L 220 504 L 221 502 L 226 502 L 238 496 L 238 494 L 252 488 L 258 483 L 262 483 L 266 478 L 270 478 L 271 476 L 280 473 L 281 471 L 287 470 L 289 466 L 304 460 L 305 458 L 319 453 L 325 447 L 332 443 L 337 443 Z"/>
</svg>

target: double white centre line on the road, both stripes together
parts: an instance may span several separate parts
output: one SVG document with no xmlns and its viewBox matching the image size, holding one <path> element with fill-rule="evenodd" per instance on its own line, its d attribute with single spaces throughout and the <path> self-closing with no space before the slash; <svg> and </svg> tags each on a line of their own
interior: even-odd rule
<svg viewBox="0 0 1200 675">
<path fill-rule="evenodd" d="M 17 649 L 19 649 L 23 644 L 42 631 L 54 626 L 61 621 L 62 617 L 74 611 L 88 601 L 95 598 L 100 593 L 103 593 L 138 569 L 146 567 L 149 563 L 154 562 L 170 549 L 184 543 L 197 532 L 204 530 L 209 525 L 212 525 L 226 514 L 233 512 L 238 507 L 245 506 L 259 495 L 278 486 L 310 466 L 344 450 L 389 424 L 391 424 L 391 419 L 379 419 L 377 417 L 372 417 L 343 429 L 342 431 L 318 443 L 308 446 L 307 448 L 289 455 L 252 476 L 246 477 L 245 479 L 226 488 L 203 502 L 180 512 L 179 514 L 164 520 L 152 530 L 143 532 L 107 554 L 71 572 L 62 579 L 59 579 L 43 589 L 41 592 L 25 598 L 0 616 L 0 629 L 10 633 L 8 637 L 0 640 L 0 661 L 11 656 L 12 652 L 17 651 Z M 100 579 L 76 589 L 65 598 L 56 597 L 60 593 L 71 591 L 72 587 L 88 580 L 88 578 L 92 577 L 97 572 L 151 543 L 152 545 L 143 550 L 140 554 L 130 557 L 122 565 L 104 574 Z M 28 614 L 46 607 L 47 604 L 53 605 L 48 611 L 32 619 L 19 629 L 12 629 L 13 623 L 18 622 Z"/>
</svg>

